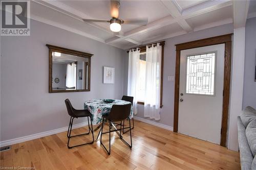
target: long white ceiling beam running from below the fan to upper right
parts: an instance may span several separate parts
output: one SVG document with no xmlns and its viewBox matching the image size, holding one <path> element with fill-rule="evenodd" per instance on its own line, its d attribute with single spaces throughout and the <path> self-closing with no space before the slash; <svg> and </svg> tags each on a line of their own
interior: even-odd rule
<svg viewBox="0 0 256 170">
<path fill-rule="evenodd" d="M 224 8 L 227 6 L 231 6 L 232 2 L 231 1 L 210 1 L 207 4 L 203 4 L 203 5 L 198 5 L 195 8 L 197 10 L 194 10 L 193 8 L 189 8 L 186 11 L 182 12 L 182 16 L 180 17 L 176 17 L 173 18 L 171 16 L 167 16 L 164 18 L 161 18 L 159 20 L 153 21 L 151 23 L 148 23 L 148 25 L 146 26 L 142 26 L 139 28 L 136 28 L 134 30 L 128 31 L 124 33 L 124 36 L 121 38 L 118 37 L 112 37 L 110 39 L 105 40 L 106 43 L 110 43 L 110 42 L 115 42 L 115 41 L 120 41 L 120 40 L 125 40 L 126 38 L 131 38 L 133 36 L 142 34 L 142 33 L 146 33 L 155 29 L 159 29 L 162 28 L 164 26 L 168 26 L 168 25 L 172 25 L 173 23 L 176 23 L 178 21 L 180 21 L 181 19 L 187 19 L 187 18 L 191 18 L 197 15 L 201 15 L 210 11 L 214 11 L 220 8 Z"/>
</svg>

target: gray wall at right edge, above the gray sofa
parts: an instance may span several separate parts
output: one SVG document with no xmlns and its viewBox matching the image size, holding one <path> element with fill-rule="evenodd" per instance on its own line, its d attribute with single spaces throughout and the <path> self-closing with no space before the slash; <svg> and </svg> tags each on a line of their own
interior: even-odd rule
<svg viewBox="0 0 256 170">
<path fill-rule="evenodd" d="M 245 27 L 245 62 L 243 108 L 256 108 L 255 56 L 256 56 L 256 17 L 247 19 Z"/>
</svg>

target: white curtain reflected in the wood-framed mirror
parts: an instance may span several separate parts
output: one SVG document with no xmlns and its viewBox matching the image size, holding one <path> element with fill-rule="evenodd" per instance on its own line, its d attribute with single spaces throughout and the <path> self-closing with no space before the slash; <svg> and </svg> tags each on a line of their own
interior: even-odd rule
<svg viewBox="0 0 256 170">
<path fill-rule="evenodd" d="M 67 64 L 66 86 L 76 88 L 76 63 Z"/>
</svg>

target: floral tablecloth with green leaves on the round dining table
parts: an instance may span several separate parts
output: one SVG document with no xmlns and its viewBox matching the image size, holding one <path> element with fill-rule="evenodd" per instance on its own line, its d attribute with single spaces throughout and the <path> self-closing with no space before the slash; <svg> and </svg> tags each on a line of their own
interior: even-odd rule
<svg viewBox="0 0 256 170">
<path fill-rule="evenodd" d="M 87 109 L 92 113 L 93 125 L 97 125 L 101 122 L 102 115 L 110 113 L 113 105 L 126 105 L 126 104 L 130 104 L 130 102 L 115 100 L 115 102 L 113 103 L 105 103 L 103 99 L 99 99 L 99 100 L 91 100 L 91 101 L 84 102 L 84 109 Z M 131 114 L 129 117 L 130 118 L 133 117 L 133 106 L 131 107 Z"/>
</svg>

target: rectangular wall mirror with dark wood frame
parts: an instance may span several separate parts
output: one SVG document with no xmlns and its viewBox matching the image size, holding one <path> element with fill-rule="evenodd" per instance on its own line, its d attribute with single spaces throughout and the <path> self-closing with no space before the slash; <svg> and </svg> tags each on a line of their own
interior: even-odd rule
<svg viewBox="0 0 256 170">
<path fill-rule="evenodd" d="M 46 46 L 49 48 L 49 93 L 90 91 L 93 54 Z"/>
</svg>

